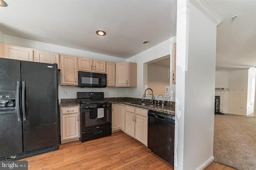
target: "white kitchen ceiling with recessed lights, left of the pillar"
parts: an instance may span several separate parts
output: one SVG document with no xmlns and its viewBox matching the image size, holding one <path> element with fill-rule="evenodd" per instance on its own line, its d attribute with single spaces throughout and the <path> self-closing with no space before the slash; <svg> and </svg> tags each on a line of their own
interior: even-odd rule
<svg viewBox="0 0 256 170">
<path fill-rule="evenodd" d="M 132 57 L 176 35 L 176 0 L 5 2 L 4 34 L 115 57 Z M 107 35 L 96 35 L 98 29 Z M 151 44 L 143 45 L 146 40 Z"/>
</svg>

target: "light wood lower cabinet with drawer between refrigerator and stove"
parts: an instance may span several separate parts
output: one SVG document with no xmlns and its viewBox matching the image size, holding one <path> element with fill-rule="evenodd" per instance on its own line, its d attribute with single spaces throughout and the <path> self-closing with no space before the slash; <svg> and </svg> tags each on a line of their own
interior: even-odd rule
<svg viewBox="0 0 256 170">
<path fill-rule="evenodd" d="M 80 138 L 80 107 L 60 107 L 60 138 L 61 143 L 79 140 Z"/>
</svg>

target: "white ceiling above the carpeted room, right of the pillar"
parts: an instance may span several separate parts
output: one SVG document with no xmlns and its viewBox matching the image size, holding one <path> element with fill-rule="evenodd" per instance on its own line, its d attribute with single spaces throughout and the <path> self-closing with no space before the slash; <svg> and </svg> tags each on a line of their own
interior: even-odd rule
<svg viewBox="0 0 256 170">
<path fill-rule="evenodd" d="M 217 27 L 216 70 L 256 66 L 256 0 L 204 0 L 222 20 Z M 232 21 L 232 16 L 238 15 Z"/>
</svg>

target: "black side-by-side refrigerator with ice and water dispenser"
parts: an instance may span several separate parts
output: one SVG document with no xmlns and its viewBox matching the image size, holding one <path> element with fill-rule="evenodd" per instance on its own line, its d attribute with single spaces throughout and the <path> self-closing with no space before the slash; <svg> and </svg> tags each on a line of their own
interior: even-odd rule
<svg viewBox="0 0 256 170">
<path fill-rule="evenodd" d="M 59 148 L 57 64 L 0 58 L 0 160 Z"/>
</svg>

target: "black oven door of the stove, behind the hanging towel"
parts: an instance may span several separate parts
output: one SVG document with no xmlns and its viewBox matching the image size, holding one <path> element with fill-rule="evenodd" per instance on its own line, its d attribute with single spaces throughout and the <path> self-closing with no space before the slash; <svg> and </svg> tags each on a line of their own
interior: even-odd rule
<svg viewBox="0 0 256 170">
<path fill-rule="evenodd" d="M 80 110 L 81 133 L 111 127 L 111 107 L 104 108 L 102 118 L 97 118 L 97 111 L 97 108 Z"/>
</svg>

